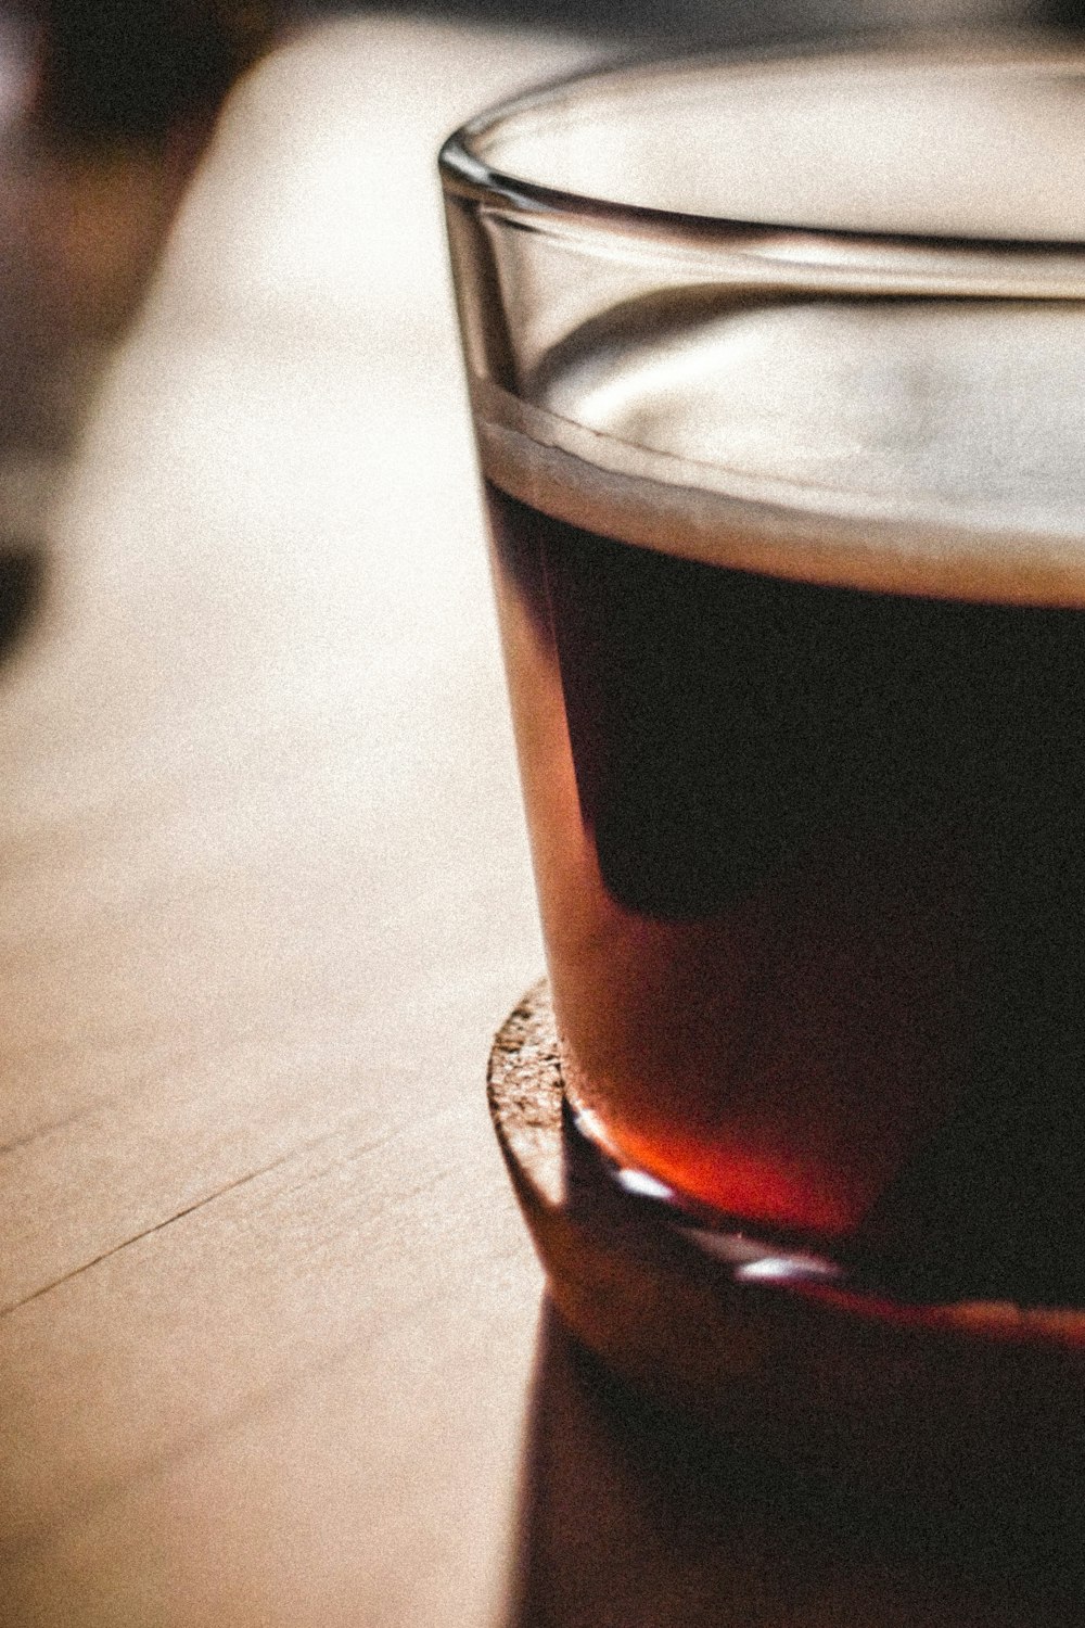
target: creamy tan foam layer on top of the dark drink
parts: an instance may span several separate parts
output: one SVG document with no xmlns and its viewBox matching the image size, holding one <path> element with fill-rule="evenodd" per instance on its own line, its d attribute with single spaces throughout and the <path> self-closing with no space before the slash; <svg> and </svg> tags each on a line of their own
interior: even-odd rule
<svg viewBox="0 0 1085 1628">
<path fill-rule="evenodd" d="M 882 591 L 1085 606 L 1085 303 L 719 291 L 618 308 L 521 397 L 486 475 L 586 529 Z"/>
</svg>

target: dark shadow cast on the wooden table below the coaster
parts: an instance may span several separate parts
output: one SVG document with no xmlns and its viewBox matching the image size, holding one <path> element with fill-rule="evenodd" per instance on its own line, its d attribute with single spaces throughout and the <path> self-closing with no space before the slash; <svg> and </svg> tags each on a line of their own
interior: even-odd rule
<svg viewBox="0 0 1085 1628">
<path fill-rule="evenodd" d="M 511 1628 L 1070 1628 L 1077 1527 L 861 1509 L 660 1418 L 543 1311 Z"/>
</svg>

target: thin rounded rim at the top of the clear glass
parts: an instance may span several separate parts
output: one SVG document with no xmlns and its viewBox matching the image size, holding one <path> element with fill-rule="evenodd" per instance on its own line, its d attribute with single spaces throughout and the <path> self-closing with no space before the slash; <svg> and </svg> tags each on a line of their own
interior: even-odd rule
<svg viewBox="0 0 1085 1628">
<path fill-rule="evenodd" d="M 947 60 L 945 50 L 953 50 Z M 706 249 L 726 247 L 730 252 L 758 254 L 769 243 L 776 252 L 800 264 L 821 264 L 826 259 L 862 265 L 870 257 L 888 254 L 893 269 L 906 270 L 909 259 L 922 262 L 927 277 L 940 262 L 942 270 L 961 262 L 986 262 L 991 269 L 1000 262 L 1004 275 L 1013 282 L 1012 267 L 1023 269 L 1031 262 L 1044 285 L 1028 285 L 1026 296 L 1085 296 L 1085 230 L 1080 236 L 1005 236 L 943 231 L 890 231 L 878 228 L 852 228 L 812 225 L 802 220 L 761 220 L 756 215 L 690 213 L 678 208 L 662 208 L 613 197 L 595 195 L 590 190 L 550 186 L 503 169 L 490 163 L 485 147 L 512 120 L 534 109 L 556 106 L 579 88 L 636 86 L 654 78 L 680 73 L 727 70 L 730 73 L 758 73 L 766 68 L 799 68 L 810 65 L 859 65 L 869 62 L 877 68 L 904 70 L 937 68 L 945 72 L 1010 72 L 1062 65 L 1067 72 L 1077 68 L 1085 77 L 1085 46 L 1028 31 L 1002 31 L 961 37 L 947 36 L 854 36 L 831 42 L 791 42 L 756 50 L 698 50 L 677 57 L 647 57 L 587 65 L 574 73 L 548 80 L 506 101 L 496 103 L 459 125 L 442 143 L 439 171 L 447 194 L 475 204 L 488 205 L 509 217 L 535 217 L 553 223 L 582 223 L 586 228 L 607 231 L 621 238 L 646 238 L 656 244 L 670 243 L 675 247 Z M 1065 264 L 1069 259 L 1069 265 Z M 1048 287 L 1054 277 L 1056 285 Z M 926 278 L 924 278 L 926 280 Z M 999 288 L 999 293 L 1015 293 Z"/>
</svg>

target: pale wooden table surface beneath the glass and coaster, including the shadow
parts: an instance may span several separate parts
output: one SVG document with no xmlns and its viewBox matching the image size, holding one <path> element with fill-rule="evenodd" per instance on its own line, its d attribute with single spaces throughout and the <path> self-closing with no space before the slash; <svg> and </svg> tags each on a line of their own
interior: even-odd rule
<svg viewBox="0 0 1085 1628">
<path fill-rule="evenodd" d="M 483 1099 L 542 952 L 433 153 L 586 54 L 325 24 L 176 217 L 195 142 L 8 122 L 5 1628 L 1080 1620 L 540 1319 Z"/>
</svg>

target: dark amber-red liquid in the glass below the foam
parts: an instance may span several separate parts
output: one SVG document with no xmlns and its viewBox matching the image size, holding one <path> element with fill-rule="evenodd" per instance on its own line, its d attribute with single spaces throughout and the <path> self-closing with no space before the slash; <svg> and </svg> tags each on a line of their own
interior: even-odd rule
<svg viewBox="0 0 1085 1628">
<path fill-rule="evenodd" d="M 590 1135 L 882 1293 L 1085 1304 L 1085 614 L 488 493 Z"/>
</svg>

